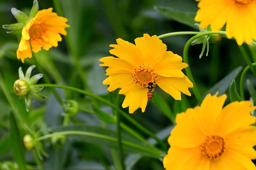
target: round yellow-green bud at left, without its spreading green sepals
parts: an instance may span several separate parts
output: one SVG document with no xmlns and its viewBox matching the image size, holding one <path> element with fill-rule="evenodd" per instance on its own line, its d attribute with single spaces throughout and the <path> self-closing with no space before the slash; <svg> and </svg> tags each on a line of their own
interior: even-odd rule
<svg viewBox="0 0 256 170">
<path fill-rule="evenodd" d="M 13 86 L 14 92 L 16 93 L 17 96 L 23 97 L 26 96 L 29 93 L 29 84 L 27 83 L 26 80 L 16 80 L 14 82 Z"/>
</svg>

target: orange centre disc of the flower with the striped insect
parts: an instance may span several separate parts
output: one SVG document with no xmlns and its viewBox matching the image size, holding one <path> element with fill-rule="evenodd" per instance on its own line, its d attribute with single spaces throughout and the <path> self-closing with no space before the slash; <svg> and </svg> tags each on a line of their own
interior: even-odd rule
<svg viewBox="0 0 256 170">
<path fill-rule="evenodd" d="M 134 68 L 135 82 L 142 85 L 148 85 L 148 83 L 155 83 L 157 75 L 154 73 L 153 69 L 149 66 L 139 66 Z"/>
</svg>

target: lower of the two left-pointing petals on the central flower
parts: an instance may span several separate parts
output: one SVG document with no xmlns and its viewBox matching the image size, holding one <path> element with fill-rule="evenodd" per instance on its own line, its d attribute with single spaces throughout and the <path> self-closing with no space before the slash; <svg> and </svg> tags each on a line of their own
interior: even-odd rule
<svg viewBox="0 0 256 170">
<path fill-rule="evenodd" d="M 131 74 L 110 75 L 103 81 L 104 85 L 109 84 L 108 91 L 112 92 L 117 88 L 123 88 L 127 84 L 134 82 Z"/>
</svg>

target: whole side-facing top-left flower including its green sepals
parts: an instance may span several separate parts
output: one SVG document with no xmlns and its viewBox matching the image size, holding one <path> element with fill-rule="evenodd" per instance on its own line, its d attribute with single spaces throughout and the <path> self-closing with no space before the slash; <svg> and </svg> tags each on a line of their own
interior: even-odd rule
<svg viewBox="0 0 256 170">
<path fill-rule="evenodd" d="M 34 1 L 29 17 L 15 8 L 12 8 L 12 14 L 19 23 L 4 25 L 3 28 L 13 31 L 23 28 L 17 50 L 17 58 L 21 59 L 23 63 L 25 58 L 32 57 L 31 48 L 35 53 L 40 51 L 41 47 L 44 50 L 49 50 L 52 46 L 58 46 L 58 41 L 61 41 L 59 34 L 67 35 L 65 31 L 65 28 L 69 27 L 66 24 L 67 18 L 59 17 L 55 12 L 52 12 L 52 8 L 38 11 L 37 0 Z M 9 33 L 13 33 L 13 31 Z"/>
</svg>

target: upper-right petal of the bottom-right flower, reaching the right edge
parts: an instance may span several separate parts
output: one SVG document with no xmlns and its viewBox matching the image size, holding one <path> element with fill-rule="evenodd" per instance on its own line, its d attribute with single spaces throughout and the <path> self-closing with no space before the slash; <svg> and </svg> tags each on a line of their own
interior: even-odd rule
<svg viewBox="0 0 256 170">
<path fill-rule="evenodd" d="M 255 107 L 251 107 L 251 101 L 236 101 L 226 105 L 216 122 L 216 130 L 221 135 L 226 135 L 238 128 L 255 123 L 255 117 L 250 114 L 254 109 Z"/>
</svg>

